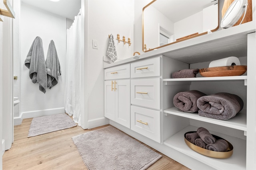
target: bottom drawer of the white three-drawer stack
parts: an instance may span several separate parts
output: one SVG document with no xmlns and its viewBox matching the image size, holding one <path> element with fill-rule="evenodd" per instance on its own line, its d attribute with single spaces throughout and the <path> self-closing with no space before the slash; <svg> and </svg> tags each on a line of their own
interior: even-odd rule
<svg viewBox="0 0 256 170">
<path fill-rule="evenodd" d="M 131 106 L 131 129 L 160 143 L 160 111 Z"/>
</svg>

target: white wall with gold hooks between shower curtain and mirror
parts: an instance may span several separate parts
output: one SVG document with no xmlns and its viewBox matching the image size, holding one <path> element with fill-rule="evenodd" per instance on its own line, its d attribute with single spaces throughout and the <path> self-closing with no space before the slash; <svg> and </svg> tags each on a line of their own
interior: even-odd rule
<svg viewBox="0 0 256 170">
<path fill-rule="evenodd" d="M 86 0 L 86 49 L 87 57 L 87 92 L 88 92 L 88 128 L 96 126 L 96 122 L 106 123 L 104 118 L 104 70 L 103 59 L 106 58 L 108 35 L 120 34 L 131 39 L 131 46 L 115 40 L 119 59 L 133 57 L 134 52 L 134 0 Z M 88 16 L 87 16 L 88 15 Z M 92 48 L 92 40 L 98 40 L 98 49 Z M 109 60 L 108 60 L 109 61 Z"/>
</svg>

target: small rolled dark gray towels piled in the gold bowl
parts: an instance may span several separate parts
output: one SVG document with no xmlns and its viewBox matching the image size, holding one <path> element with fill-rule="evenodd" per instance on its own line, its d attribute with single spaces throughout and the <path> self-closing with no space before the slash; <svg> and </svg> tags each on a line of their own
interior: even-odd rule
<svg viewBox="0 0 256 170">
<path fill-rule="evenodd" d="M 228 143 L 224 139 L 216 140 L 204 127 L 199 127 L 194 133 L 187 133 L 186 139 L 194 145 L 216 152 L 226 152 Z"/>
</svg>

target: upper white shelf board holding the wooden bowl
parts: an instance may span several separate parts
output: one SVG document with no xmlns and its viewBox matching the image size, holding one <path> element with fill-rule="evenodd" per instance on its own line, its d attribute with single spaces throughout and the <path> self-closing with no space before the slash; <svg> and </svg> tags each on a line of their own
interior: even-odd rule
<svg viewBox="0 0 256 170">
<path fill-rule="evenodd" d="M 197 81 L 247 81 L 247 76 L 220 76 L 220 77 L 195 77 L 195 78 L 164 78 L 165 85 L 186 84 Z M 178 83 L 177 83 L 178 82 Z"/>
</svg>

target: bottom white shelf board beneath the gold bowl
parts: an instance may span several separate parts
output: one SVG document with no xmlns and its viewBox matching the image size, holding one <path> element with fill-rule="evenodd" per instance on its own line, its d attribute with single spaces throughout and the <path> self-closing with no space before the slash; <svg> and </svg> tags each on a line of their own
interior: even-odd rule
<svg viewBox="0 0 256 170">
<path fill-rule="evenodd" d="M 184 134 L 186 132 L 196 131 L 197 129 L 198 127 L 189 125 L 188 127 L 182 129 L 181 131 L 179 131 L 178 133 L 174 134 L 172 137 L 164 141 L 164 145 L 167 145 L 168 147 L 178 150 L 179 152 L 182 152 L 183 154 L 186 154 L 192 158 L 195 158 L 196 160 L 203 162 L 204 164 L 207 164 L 208 166 L 211 166 L 212 168 L 216 168 L 218 170 L 227 170 L 227 169 L 230 169 L 230 170 L 244 169 L 245 170 L 246 169 L 246 141 L 245 140 L 210 131 L 210 133 L 217 135 L 219 137 L 222 137 L 223 139 L 226 139 L 234 147 L 233 154 L 230 158 L 226 158 L 226 159 L 210 158 L 208 156 L 204 156 L 190 149 L 184 141 Z"/>
</svg>

